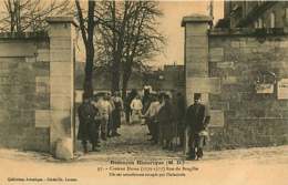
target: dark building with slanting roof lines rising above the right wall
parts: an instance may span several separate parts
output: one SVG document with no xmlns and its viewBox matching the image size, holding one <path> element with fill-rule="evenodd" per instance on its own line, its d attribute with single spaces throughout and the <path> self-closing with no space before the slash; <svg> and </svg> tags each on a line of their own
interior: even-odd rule
<svg viewBox="0 0 288 185">
<path fill-rule="evenodd" d="M 271 28 L 288 25 L 287 1 L 225 1 L 220 28 Z"/>
</svg>

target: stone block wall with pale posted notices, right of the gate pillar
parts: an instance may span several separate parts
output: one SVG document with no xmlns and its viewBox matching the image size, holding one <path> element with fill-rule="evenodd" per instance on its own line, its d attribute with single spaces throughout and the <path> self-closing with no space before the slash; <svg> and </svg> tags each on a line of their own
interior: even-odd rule
<svg viewBox="0 0 288 185">
<path fill-rule="evenodd" d="M 213 147 L 287 144 L 288 100 L 277 85 L 288 79 L 287 35 L 223 32 L 209 34 L 209 76 L 220 80 L 209 103 L 225 115 L 224 129 L 212 129 Z M 265 92 L 257 89 L 265 84 Z"/>
</svg>

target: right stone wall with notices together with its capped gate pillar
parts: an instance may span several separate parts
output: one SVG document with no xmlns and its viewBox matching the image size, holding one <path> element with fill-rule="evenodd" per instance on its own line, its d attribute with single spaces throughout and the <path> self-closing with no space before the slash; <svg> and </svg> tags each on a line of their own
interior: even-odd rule
<svg viewBox="0 0 288 185">
<path fill-rule="evenodd" d="M 286 29 L 208 30 L 209 22 L 204 16 L 183 19 L 186 99 L 189 105 L 193 93 L 203 93 L 210 106 L 208 148 L 287 144 Z"/>
</svg>

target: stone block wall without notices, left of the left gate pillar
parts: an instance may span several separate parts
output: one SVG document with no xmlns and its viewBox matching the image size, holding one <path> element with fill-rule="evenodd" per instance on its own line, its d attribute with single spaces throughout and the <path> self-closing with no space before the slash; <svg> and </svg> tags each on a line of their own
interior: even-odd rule
<svg viewBox="0 0 288 185">
<path fill-rule="evenodd" d="M 49 39 L 0 37 L 0 144 L 49 151 L 49 126 L 41 116 L 50 109 Z"/>
</svg>

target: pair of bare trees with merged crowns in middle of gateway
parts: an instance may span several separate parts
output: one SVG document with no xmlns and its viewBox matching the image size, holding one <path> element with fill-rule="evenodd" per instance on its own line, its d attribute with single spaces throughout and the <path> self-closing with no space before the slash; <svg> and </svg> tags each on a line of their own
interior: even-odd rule
<svg viewBox="0 0 288 185">
<path fill-rule="evenodd" d="M 126 94 L 132 71 L 141 70 L 145 62 L 162 49 L 164 38 L 157 32 L 157 18 L 162 16 L 154 1 L 107 1 L 96 13 L 100 21 L 99 56 L 111 68 L 112 92 Z"/>
</svg>

